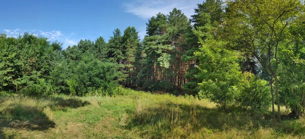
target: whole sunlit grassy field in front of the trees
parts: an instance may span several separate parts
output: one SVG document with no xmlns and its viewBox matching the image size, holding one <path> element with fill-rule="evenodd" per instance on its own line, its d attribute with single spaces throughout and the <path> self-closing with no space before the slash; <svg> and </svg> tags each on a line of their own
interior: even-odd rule
<svg viewBox="0 0 305 139">
<path fill-rule="evenodd" d="M 126 89 L 116 97 L 0 97 L 0 138 L 305 138 L 305 119 Z M 287 114 L 283 110 L 283 115 Z"/>
</svg>

